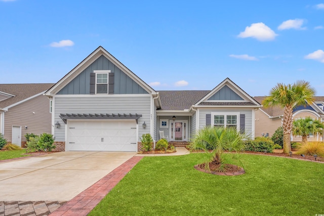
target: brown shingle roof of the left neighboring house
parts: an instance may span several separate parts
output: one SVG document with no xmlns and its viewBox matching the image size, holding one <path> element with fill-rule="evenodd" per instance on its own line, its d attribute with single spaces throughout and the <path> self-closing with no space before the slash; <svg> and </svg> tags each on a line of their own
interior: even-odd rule
<svg viewBox="0 0 324 216">
<path fill-rule="evenodd" d="M 14 97 L 0 101 L 0 109 L 49 90 L 54 83 L 0 84 L 0 92 Z"/>
</svg>

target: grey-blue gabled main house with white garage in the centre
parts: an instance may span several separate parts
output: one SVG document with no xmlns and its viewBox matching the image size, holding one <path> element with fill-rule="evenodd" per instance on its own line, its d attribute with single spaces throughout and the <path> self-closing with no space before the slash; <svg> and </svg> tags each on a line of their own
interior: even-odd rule
<svg viewBox="0 0 324 216">
<path fill-rule="evenodd" d="M 200 127 L 232 126 L 254 138 L 260 104 L 226 78 L 212 91 L 153 90 L 102 47 L 46 93 L 53 101 L 57 149 L 138 151 L 140 138 L 159 131 L 190 141 Z"/>
</svg>

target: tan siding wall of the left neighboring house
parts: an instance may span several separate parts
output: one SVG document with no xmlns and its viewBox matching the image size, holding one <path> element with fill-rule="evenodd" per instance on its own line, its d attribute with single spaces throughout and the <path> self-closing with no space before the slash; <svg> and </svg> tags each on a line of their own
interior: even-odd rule
<svg viewBox="0 0 324 216">
<path fill-rule="evenodd" d="M 11 142 L 13 125 L 21 126 L 22 142 L 26 141 L 25 135 L 27 133 L 36 135 L 51 134 L 51 117 L 50 100 L 43 95 L 9 108 L 5 113 L 5 138 Z M 25 129 L 25 126 L 28 126 L 28 128 Z"/>
</svg>

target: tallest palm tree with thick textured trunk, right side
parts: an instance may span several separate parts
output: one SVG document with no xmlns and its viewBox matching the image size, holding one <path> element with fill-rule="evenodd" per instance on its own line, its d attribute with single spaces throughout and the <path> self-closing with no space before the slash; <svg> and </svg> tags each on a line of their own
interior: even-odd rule
<svg viewBox="0 0 324 216">
<path fill-rule="evenodd" d="M 284 153 L 291 151 L 290 139 L 293 127 L 293 108 L 299 105 L 311 104 L 315 95 L 309 82 L 298 80 L 294 84 L 277 83 L 271 89 L 270 96 L 266 97 L 262 104 L 264 107 L 281 106 L 285 108 L 282 117 L 282 128 L 284 129 Z"/>
</svg>

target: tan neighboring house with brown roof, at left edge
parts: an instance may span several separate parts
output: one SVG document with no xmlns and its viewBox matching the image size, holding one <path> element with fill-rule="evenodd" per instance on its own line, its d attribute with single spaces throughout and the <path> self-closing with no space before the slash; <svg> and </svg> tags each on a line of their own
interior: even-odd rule
<svg viewBox="0 0 324 216">
<path fill-rule="evenodd" d="M 54 84 L 0 84 L 0 133 L 23 146 L 25 134 L 51 133 L 52 103 L 43 94 Z"/>
</svg>

